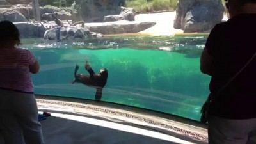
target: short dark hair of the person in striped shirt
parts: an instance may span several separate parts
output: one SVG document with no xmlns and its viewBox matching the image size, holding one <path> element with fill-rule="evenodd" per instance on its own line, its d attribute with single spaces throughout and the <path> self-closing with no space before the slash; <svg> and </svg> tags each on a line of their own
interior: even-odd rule
<svg viewBox="0 0 256 144">
<path fill-rule="evenodd" d="M 0 22 L 0 41 L 14 40 L 15 45 L 20 43 L 19 29 L 10 21 L 3 20 Z"/>
</svg>

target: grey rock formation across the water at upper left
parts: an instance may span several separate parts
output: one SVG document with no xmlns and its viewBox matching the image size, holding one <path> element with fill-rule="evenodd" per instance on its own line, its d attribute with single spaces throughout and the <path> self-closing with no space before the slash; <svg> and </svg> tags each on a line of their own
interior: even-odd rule
<svg viewBox="0 0 256 144">
<path fill-rule="evenodd" d="M 95 8 L 101 8 L 102 10 L 99 10 L 99 13 L 86 13 L 84 17 L 88 16 L 88 19 L 87 22 L 86 19 L 84 22 L 84 20 L 76 20 L 79 15 L 81 16 L 81 13 L 78 13 L 75 9 L 44 6 L 40 7 L 42 22 L 35 22 L 35 20 L 33 20 L 31 5 L 16 4 L 10 8 L 0 8 L 0 21 L 10 20 L 14 22 L 22 38 L 45 37 L 49 40 L 101 37 L 103 35 L 120 33 L 138 33 L 156 24 L 156 22 L 134 21 L 134 9 L 122 7 L 123 4 L 121 2 L 123 0 L 76 0 L 75 2 L 77 3 L 77 1 L 79 1 L 79 3 L 83 2 L 84 4 L 89 4 L 88 6 L 94 4 Z M 15 1 L 13 1 L 13 3 L 14 2 Z M 99 4 L 101 5 L 99 6 Z M 73 7 L 77 8 L 76 4 L 73 4 Z M 54 22 L 56 12 L 58 13 L 58 19 L 63 22 L 61 28 L 56 26 Z M 118 15 L 116 15 L 116 13 L 118 13 Z M 71 20 L 72 22 L 70 22 Z M 100 22 L 95 22 L 98 20 Z M 56 33 L 56 31 L 60 34 Z"/>
</svg>

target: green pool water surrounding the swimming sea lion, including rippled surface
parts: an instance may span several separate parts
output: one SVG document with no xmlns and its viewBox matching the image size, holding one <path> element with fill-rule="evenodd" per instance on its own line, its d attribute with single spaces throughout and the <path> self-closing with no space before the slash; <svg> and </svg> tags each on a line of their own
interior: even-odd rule
<svg viewBox="0 0 256 144">
<path fill-rule="evenodd" d="M 70 84 L 74 67 L 87 74 L 105 67 L 109 77 L 102 101 L 153 109 L 199 120 L 209 93 L 209 76 L 200 73 L 199 57 L 206 36 L 109 37 L 83 42 L 23 40 L 41 67 L 33 75 L 35 93 L 94 99 L 95 89 Z"/>
</svg>

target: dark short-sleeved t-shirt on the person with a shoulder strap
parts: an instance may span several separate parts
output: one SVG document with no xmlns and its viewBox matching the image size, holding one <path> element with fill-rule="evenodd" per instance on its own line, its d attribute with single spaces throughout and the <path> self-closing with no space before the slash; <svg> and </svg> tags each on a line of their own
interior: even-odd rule
<svg viewBox="0 0 256 144">
<path fill-rule="evenodd" d="M 210 91 L 212 115 L 230 119 L 256 118 L 256 58 L 214 97 L 256 52 L 256 14 L 237 15 L 217 24 L 205 47 L 213 57 Z"/>
</svg>

